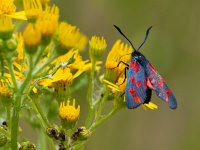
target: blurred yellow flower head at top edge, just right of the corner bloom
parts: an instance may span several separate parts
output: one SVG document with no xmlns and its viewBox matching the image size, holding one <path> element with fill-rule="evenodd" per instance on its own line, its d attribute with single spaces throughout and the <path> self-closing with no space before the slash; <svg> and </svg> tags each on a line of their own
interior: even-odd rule
<svg viewBox="0 0 200 150">
<path fill-rule="evenodd" d="M 23 0 L 26 17 L 30 21 L 35 21 L 42 13 L 40 0 Z"/>
</svg>

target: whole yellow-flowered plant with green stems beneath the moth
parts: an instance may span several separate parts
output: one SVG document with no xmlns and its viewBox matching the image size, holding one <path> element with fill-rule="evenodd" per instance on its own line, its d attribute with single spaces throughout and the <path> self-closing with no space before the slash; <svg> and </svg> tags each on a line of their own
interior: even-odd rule
<svg viewBox="0 0 200 150">
<path fill-rule="evenodd" d="M 0 115 L 5 120 L 0 147 L 36 149 L 30 141 L 18 142 L 19 119 L 23 119 L 41 132 L 46 129 L 50 146 L 78 149 L 99 125 L 125 106 L 125 64 L 132 48 L 117 40 L 101 67 L 105 38 L 88 38 L 78 27 L 60 21 L 59 8 L 49 2 L 23 0 L 24 10 L 17 12 L 13 0 L 0 1 Z M 25 22 L 23 31 L 14 31 L 14 19 Z M 89 58 L 83 59 L 87 45 Z M 103 75 L 100 69 L 104 69 Z M 88 93 L 82 101 L 89 106 L 81 127 L 80 90 Z M 104 114 L 109 102 L 113 103 L 111 111 Z M 147 107 L 157 106 L 150 103 Z"/>
</svg>

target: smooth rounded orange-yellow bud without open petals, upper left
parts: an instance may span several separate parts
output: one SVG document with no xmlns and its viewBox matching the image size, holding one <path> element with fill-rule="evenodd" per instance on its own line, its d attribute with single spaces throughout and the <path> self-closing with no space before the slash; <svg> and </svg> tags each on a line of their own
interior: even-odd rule
<svg viewBox="0 0 200 150">
<path fill-rule="evenodd" d="M 23 33 L 24 45 L 28 48 L 35 48 L 41 42 L 41 33 L 37 26 L 29 23 Z M 34 53 L 35 50 L 29 50 L 28 53 Z"/>
</svg>

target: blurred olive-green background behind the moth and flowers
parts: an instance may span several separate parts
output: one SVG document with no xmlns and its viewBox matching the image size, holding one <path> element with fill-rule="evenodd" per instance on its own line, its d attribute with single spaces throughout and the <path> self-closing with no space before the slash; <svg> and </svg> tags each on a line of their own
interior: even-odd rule
<svg viewBox="0 0 200 150">
<path fill-rule="evenodd" d="M 118 25 L 141 49 L 173 90 L 178 109 L 170 110 L 154 94 L 159 109 L 124 109 L 99 127 L 87 150 L 188 150 L 200 149 L 200 1 L 198 0 L 60 0 L 61 20 L 78 26 L 83 33 L 104 36 L 108 49 L 124 38 Z M 126 42 L 126 41 L 125 41 Z M 106 55 L 105 55 L 106 56 Z M 81 118 L 86 102 L 81 93 Z"/>
</svg>

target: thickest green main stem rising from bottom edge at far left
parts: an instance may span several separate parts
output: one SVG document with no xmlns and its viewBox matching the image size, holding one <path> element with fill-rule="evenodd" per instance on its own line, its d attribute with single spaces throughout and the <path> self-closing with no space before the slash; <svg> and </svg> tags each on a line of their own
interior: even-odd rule
<svg viewBox="0 0 200 150">
<path fill-rule="evenodd" d="M 32 71 L 33 71 L 33 59 L 30 56 L 29 59 L 29 71 L 28 74 L 21 85 L 19 91 L 14 95 L 14 107 L 12 114 L 12 124 L 11 124 L 11 149 L 17 150 L 17 139 L 18 139 L 18 128 L 19 128 L 19 112 L 21 110 L 21 102 L 23 100 L 23 94 L 26 93 L 29 89 L 27 87 L 30 86 L 32 79 Z"/>
</svg>

